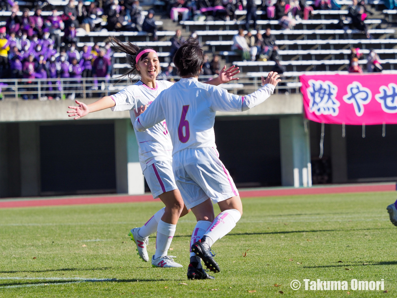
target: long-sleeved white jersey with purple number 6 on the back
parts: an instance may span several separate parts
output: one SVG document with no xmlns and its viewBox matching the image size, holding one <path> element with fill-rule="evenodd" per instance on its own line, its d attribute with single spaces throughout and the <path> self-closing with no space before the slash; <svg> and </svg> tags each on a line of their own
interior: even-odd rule
<svg viewBox="0 0 397 298">
<path fill-rule="evenodd" d="M 173 144 L 172 154 L 186 148 L 215 148 L 216 111 L 248 110 L 262 103 L 273 91 L 274 85 L 266 84 L 242 97 L 220 87 L 200 83 L 195 78 L 181 79 L 160 93 L 135 120 L 135 128 L 143 131 L 166 119 Z"/>
</svg>

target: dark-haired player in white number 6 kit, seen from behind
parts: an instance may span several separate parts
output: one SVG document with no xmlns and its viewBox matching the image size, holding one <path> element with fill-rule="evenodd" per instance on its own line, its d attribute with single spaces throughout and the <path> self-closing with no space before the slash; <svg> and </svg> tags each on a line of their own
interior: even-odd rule
<svg viewBox="0 0 397 298">
<path fill-rule="evenodd" d="M 266 80 L 262 77 L 263 87 L 247 96 L 200 83 L 197 77 L 204 55 L 198 42 L 192 39 L 177 50 L 174 64 L 182 79 L 162 91 L 147 109 L 146 106 L 139 108 L 134 126 L 143 132 L 166 119 L 173 145 L 175 182 L 185 206 L 197 219 L 191 237 L 187 277 L 200 279 L 201 259 L 211 271 L 220 271 L 210 248 L 231 231 L 243 214 L 237 188 L 216 150 L 215 113 L 253 108 L 273 94 L 280 79 L 277 73 L 271 72 Z M 218 203 L 221 209 L 215 219 L 211 201 Z"/>
</svg>

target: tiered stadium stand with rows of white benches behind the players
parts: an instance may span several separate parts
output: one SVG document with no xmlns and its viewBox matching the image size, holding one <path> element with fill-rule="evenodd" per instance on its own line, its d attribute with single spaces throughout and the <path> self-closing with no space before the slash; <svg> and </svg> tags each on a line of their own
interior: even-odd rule
<svg viewBox="0 0 397 298">
<path fill-rule="evenodd" d="M 99 47 L 106 46 L 109 41 L 108 37 L 114 35 L 121 41 L 130 41 L 138 46 L 153 47 L 158 51 L 161 66 L 165 70 L 170 64 L 173 65 L 171 63 L 171 55 L 175 52 L 174 37 L 177 31 L 181 30 L 182 38 L 187 39 L 189 36 L 193 36 L 199 39 L 208 55 L 209 61 L 213 60 L 214 56 L 218 56 L 220 65 L 231 65 L 233 63 L 241 68 L 241 75 L 245 78 L 254 77 L 270 70 L 283 72 L 285 79 L 295 81 L 297 75 L 310 72 L 313 74 L 346 73 L 351 58 L 355 55 L 358 56 L 360 65 L 367 64 L 367 55 L 370 54 L 371 49 L 378 55 L 383 72 L 396 70 L 397 33 L 395 30 L 397 28 L 397 10 L 380 0 L 366 2 L 362 6 L 364 13 L 358 9 L 361 4 L 357 4 L 361 27 L 357 25 L 357 21 L 351 16 L 351 7 L 353 5 L 351 0 L 333 1 L 338 7 L 333 7 L 332 9 L 329 9 L 329 6 L 327 7 L 327 2 L 325 6 L 317 7 L 317 2 L 306 1 L 306 7 L 311 7 L 308 10 L 308 15 L 299 14 L 291 8 L 291 5 L 295 5 L 293 1 L 286 1 L 286 4 L 290 2 L 289 11 L 285 12 L 285 17 L 288 17 L 289 22 L 291 22 L 289 25 L 292 24 L 289 26 L 290 29 L 285 29 L 285 25 L 276 15 L 268 14 L 268 8 L 271 8 L 272 5 L 277 7 L 278 4 L 275 1 L 272 1 L 271 4 L 266 2 L 266 5 L 270 6 L 266 6 L 265 2 L 256 1 L 256 17 L 254 18 L 247 15 L 247 10 L 244 6 L 227 6 L 224 9 L 220 9 L 217 6 L 216 8 L 203 10 L 201 6 L 197 6 L 197 8 L 189 6 L 190 2 L 188 2 L 186 6 L 189 9 L 187 19 L 181 19 L 183 15 L 180 14 L 177 21 L 170 19 L 173 1 L 162 1 L 161 3 L 160 1 L 144 2 L 140 6 L 136 6 L 133 1 L 124 1 L 125 4 L 120 4 L 113 0 L 107 0 L 102 3 L 101 8 L 99 2 L 81 2 L 87 12 L 91 12 L 90 7 L 94 6 L 96 13 L 93 17 L 94 23 L 90 23 L 93 20 L 87 19 L 80 19 L 79 23 L 68 20 L 65 12 L 73 10 L 73 7 L 69 7 L 70 5 L 73 6 L 69 2 L 73 4 L 73 1 L 48 0 L 48 5 L 42 7 L 41 15 L 44 20 L 50 19 L 53 14 L 52 8 L 56 8 L 56 15 L 60 16 L 65 24 L 59 32 L 54 33 L 51 31 L 50 37 L 54 42 L 54 49 L 56 50 L 54 56 L 57 60 L 61 56 L 61 48 L 65 48 L 66 52 L 69 52 L 72 43 L 75 43 L 76 50 L 79 53 L 84 46 L 88 46 L 93 51 L 95 48 L 98 51 Z M 137 8 L 137 13 L 134 15 L 130 13 L 129 4 L 132 3 L 135 3 L 135 8 Z M 75 1 L 74 5 L 77 7 L 79 2 Z M 111 20 L 110 16 L 113 13 L 113 8 L 115 12 L 121 15 L 121 19 Z M 3 8 L 0 11 L 0 28 L 5 28 L 0 30 L 5 31 L 4 37 L 6 39 L 9 38 L 10 30 L 8 26 L 10 26 L 12 11 L 15 11 L 17 16 L 21 18 L 25 9 L 29 10 L 30 17 L 34 17 L 37 8 L 29 2 L 18 2 L 18 4 L 9 5 L 8 8 Z M 126 13 L 127 9 L 129 14 Z M 142 29 L 142 22 L 145 17 L 148 18 L 150 13 L 153 13 L 153 9 L 155 11 L 152 24 L 155 25 L 156 29 L 154 31 L 145 31 Z M 303 8 L 301 12 L 303 13 Z M 85 17 L 89 17 L 89 15 Z M 68 39 L 70 35 L 68 25 L 71 23 L 75 24 L 75 34 Z M 89 23 L 89 26 L 87 23 Z M 43 28 L 45 29 L 48 26 L 48 23 L 44 23 Z M 247 26 L 250 27 L 250 36 L 247 35 Z M 258 36 L 266 35 L 268 27 L 271 29 L 271 35 L 275 39 L 273 46 L 277 48 L 270 49 L 270 54 L 268 52 L 268 55 L 266 55 L 264 52 L 265 46 L 263 44 L 260 45 Z M 256 47 L 258 49 L 256 55 L 251 56 L 251 58 L 243 59 L 241 52 L 232 50 L 233 37 L 237 35 L 239 29 L 245 30 L 243 35 L 248 43 L 252 41 L 249 48 Z M 22 31 L 20 30 L 17 33 L 17 38 L 21 38 Z M 41 38 L 42 32 L 38 33 L 39 38 Z M 28 39 L 32 41 L 33 35 L 29 35 Z M 35 50 L 34 48 L 32 49 Z M 19 50 L 22 52 L 23 48 L 19 48 Z M 12 49 L 8 50 L 7 55 L 10 55 L 11 51 Z M 125 54 L 113 53 L 111 50 L 107 51 L 108 59 L 111 62 L 110 76 L 117 77 L 127 67 Z M 274 51 L 274 54 L 272 54 L 272 51 Z M 353 54 L 353 51 L 357 51 L 357 53 Z M 277 56 L 277 59 L 274 58 L 275 56 Z M 9 57 L 7 58 L 12 61 Z M 37 60 L 37 57 L 35 57 L 35 60 Z M 4 61 L 2 59 L 2 66 L 0 66 L 0 76 L 2 77 L 8 74 L 6 71 L 11 67 L 5 64 Z M 365 70 L 366 68 L 364 67 Z M 23 74 L 21 74 L 21 77 L 23 77 Z M 39 78 L 40 76 L 36 77 Z M 173 77 L 172 79 L 177 78 Z M 295 81 L 289 82 L 289 86 L 295 87 L 293 85 Z M 12 85 L 12 83 L 9 83 L 9 85 Z M 228 89 L 238 89 L 244 92 L 244 86 L 247 85 L 249 84 L 243 83 L 233 88 L 228 87 Z M 4 87 L 2 88 L 3 94 L 6 94 L 6 90 Z"/>
</svg>

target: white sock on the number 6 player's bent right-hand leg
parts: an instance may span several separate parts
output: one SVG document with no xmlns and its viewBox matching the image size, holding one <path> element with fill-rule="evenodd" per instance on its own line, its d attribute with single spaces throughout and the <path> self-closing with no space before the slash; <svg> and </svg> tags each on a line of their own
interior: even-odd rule
<svg viewBox="0 0 397 298">
<path fill-rule="evenodd" d="M 208 248 L 210 248 L 216 240 L 229 233 L 236 226 L 240 218 L 241 213 L 237 209 L 228 209 L 219 213 L 205 232 L 205 240 L 201 242 L 207 244 Z"/>
</svg>

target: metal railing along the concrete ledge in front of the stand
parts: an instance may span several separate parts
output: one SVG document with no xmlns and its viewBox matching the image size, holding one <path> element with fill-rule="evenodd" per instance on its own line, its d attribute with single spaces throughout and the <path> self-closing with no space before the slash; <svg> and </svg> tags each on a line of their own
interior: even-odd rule
<svg viewBox="0 0 397 298">
<path fill-rule="evenodd" d="M 249 94 L 256 91 L 261 84 L 260 77 L 239 75 L 239 80 L 222 84 L 222 88 L 234 94 Z M 201 75 L 201 82 L 214 78 L 212 75 Z M 178 81 L 178 76 L 160 77 L 168 81 Z M 87 99 L 100 98 L 117 93 L 126 86 L 135 83 L 124 78 L 87 77 L 87 78 L 57 78 L 57 79 L 2 79 L 0 83 L 0 99 L 18 101 L 27 99 Z M 276 87 L 275 93 L 299 93 L 299 77 L 283 79 Z"/>
</svg>

